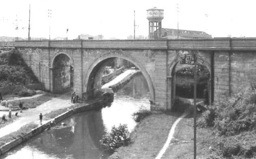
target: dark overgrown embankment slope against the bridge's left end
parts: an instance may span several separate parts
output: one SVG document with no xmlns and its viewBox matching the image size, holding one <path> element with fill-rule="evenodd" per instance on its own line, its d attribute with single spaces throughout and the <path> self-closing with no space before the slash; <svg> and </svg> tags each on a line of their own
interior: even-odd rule
<svg viewBox="0 0 256 159">
<path fill-rule="evenodd" d="M 0 87 L 38 83 L 31 68 L 15 49 L 0 53 L 0 68 Z"/>
</svg>

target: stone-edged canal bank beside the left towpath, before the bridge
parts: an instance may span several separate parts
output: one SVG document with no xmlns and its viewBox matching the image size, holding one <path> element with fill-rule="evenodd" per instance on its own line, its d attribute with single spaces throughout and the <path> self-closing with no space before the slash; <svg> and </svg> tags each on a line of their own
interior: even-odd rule
<svg viewBox="0 0 256 159">
<path fill-rule="evenodd" d="M 19 137 L 12 140 L 11 142 L 8 142 L 8 143 L 4 144 L 3 146 L 1 146 L 0 147 L 0 155 L 6 153 L 11 148 L 14 148 L 15 146 L 21 144 L 22 142 L 25 142 L 26 140 L 32 138 L 33 136 L 41 133 L 45 129 L 55 125 L 55 123 L 58 123 L 58 122 L 60 122 L 64 119 L 66 119 L 70 115 L 76 114 L 78 112 L 83 112 L 83 111 L 87 111 L 87 110 L 100 108 L 100 107 L 102 107 L 103 103 L 104 103 L 103 100 L 98 100 L 97 102 L 94 102 L 94 103 L 91 103 L 91 104 L 85 104 L 84 106 L 74 108 L 72 110 L 68 110 L 67 112 L 64 112 L 64 113 L 58 115 L 57 117 L 51 119 L 49 122 L 47 122 L 43 125 L 40 125 L 39 127 L 35 128 L 35 129 L 32 129 L 27 134 L 20 135 Z"/>
</svg>

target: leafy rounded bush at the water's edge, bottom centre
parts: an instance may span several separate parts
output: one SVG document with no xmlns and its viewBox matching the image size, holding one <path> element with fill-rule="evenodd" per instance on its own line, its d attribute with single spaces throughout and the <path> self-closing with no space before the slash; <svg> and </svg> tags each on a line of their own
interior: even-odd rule
<svg viewBox="0 0 256 159">
<path fill-rule="evenodd" d="M 105 151 L 109 153 L 113 153 L 121 146 L 127 146 L 131 143 L 127 125 L 113 126 L 111 132 L 105 134 L 100 143 L 105 147 Z"/>
</svg>

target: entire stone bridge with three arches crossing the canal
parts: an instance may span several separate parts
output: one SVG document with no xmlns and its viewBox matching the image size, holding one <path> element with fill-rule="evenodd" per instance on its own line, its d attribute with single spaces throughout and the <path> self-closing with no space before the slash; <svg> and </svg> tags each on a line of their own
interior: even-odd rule
<svg viewBox="0 0 256 159">
<path fill-rule="evenodd" d="M 209 70 L 209 100 L 214 102 L 255 83 L 256 38 L 176 40 L 15 41 L 28 66 L 50 91 L 96 96 L 103 70 L 113 58 L 133 63 L 147 81 L 151 109 L 171 109 L 175 100 L 175 67 L 196 53 Z"/>
</svg>

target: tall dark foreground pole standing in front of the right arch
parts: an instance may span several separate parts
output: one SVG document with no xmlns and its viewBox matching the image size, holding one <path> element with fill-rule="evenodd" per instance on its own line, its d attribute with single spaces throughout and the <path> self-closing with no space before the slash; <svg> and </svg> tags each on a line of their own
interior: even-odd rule
<svg viewBox="0 0 256 159">
<path fill-rule="evenodd" d="M 197 59 L 194 52 L 194 159 L 196 159 L 196 74 L 197 74 Z"/>
</svg>

